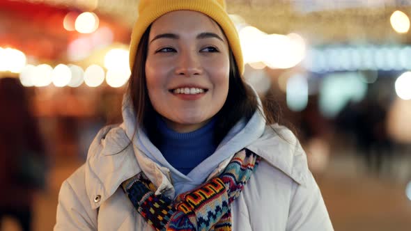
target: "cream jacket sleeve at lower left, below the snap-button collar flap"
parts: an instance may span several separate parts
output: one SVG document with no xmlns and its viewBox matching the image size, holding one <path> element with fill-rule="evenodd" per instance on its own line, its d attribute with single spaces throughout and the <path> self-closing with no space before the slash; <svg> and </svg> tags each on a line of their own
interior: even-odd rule
<svg viewBox="0 0 411 231">
<path fill-rule="evenodd" d="M 63 182 L 54 230 L 97 230 L 97 211 L 91 209 L 84 182 L 84 166 Z"/>
</svg>

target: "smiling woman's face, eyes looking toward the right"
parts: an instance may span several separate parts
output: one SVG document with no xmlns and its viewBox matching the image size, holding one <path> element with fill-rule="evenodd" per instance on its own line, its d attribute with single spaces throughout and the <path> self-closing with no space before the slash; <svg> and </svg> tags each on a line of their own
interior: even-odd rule
<svg viewBox="0 0 411 231">
<path fill-rule="evenodd" d="M 153 22 L 145 68 L 150 102 L 176 132 L 199 129 L 226 101 L 228 42 L 202 13 L 173 11 Z"/>
</svg>

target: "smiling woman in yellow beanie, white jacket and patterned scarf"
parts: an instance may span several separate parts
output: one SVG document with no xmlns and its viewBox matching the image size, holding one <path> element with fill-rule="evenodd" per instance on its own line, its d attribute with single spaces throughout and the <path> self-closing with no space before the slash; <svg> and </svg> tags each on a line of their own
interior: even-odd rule
<svg viewBox="0 0 411 231">
<path fill-rule="evenodd" d="M 240 74 L 222 0 L 143 0 L 119 126 L 63 183 L 55 230 L 332 230 L 295 136 Z"/>
</svg>

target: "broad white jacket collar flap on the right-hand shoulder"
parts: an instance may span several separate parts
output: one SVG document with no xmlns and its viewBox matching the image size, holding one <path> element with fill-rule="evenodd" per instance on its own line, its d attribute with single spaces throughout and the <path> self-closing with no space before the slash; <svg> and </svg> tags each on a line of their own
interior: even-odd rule
<svg viewBox="0 0 411 231">
<path fill-rule="evenodd" d="M 277 168 L 298 184 L 306 184 L 311 174 L 307 156 L 300 141 L 287 127 L 267 125 L 263 135 L 247 148 L 262 157 L 270 168 Z"/>
</svg>

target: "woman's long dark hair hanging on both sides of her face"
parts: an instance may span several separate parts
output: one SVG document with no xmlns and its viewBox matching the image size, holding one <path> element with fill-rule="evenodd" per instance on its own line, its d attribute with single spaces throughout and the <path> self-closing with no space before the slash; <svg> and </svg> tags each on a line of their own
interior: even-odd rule
<svg viewBox="0 0 411 231">
<path fill-rule="evenodd" d="M 139 46 L 137 47 L 137 54 L 135 62 L 132 68 L 132 74 L 128 83 L 127 94 L 130 95 L 132 105 L 134 107 L 134 113 L 137 116 L 137 126 L 146 130 L 146 134 L 153 144 L 157 145 L 161 141 L 155 136 L 155 117 L 157 112 L 153 109 L 153 106 L 148 97 L 148 90 L 146 85 L 146 58 L 148 51 L 148 35 L 150 33 L 150 26 L 144 34 L 141 36 Z M 218 145 L 222 141 L 224 136 L 241 118 L 251 118 L 256 110 L 261 111 L 258 108 L 258 99 L 253 90 L 245 83 L 244 79 L 240 76 L 238 65 L 235 62 L 232 51 L 229 53 L 230 71 L 229 71 L 229 83 L 228 83 L 228 95 L 226 102 L 222 106 L 222 109 L 217 113 L 217 121 L 215 127 L 215 144 Z M 272 111 L 270 109 L 264 109 L 264 111 Z M 267 124 L 273 124 L 273 113 L 268 113 L 265 116 Z M 134 132 L 135 135 L 135 132 Z"/>
</svg>

